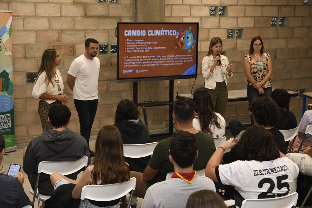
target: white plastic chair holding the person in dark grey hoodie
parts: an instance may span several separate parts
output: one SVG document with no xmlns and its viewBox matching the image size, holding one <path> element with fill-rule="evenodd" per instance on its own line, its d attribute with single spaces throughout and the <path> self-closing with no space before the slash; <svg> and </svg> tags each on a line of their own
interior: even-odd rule
<svg viewBox="0 0 312 208">
<path fill-rule="evenodd" d="M 75 173 L 79 170 L 81 170 L 83 167 L 88 166 L 88 156 L 83 156 L 79 160 L 76 161 L 64 161 L 64 162 L 48 162 L 48 161 L 42 161 L 38 165 L 38 175 L 37 175 L 37 181 L 35 185 L 36 193 L 34 193 L 34 190 L 29 190 L 29 192 L 34 195 L 32 199 L 32 203 L 35 203 L 35 199 L 37 197 L 40 201 L 46 201 L 50 198 L 49 195 L 39 195 L 38 191 L 38 182 L 39 182 L 39 176 L 40 173 L 46 173 L 48 175 L 51 175 L 52 173 L 60 173 L 62 175 L 69 175 L 71 173 Z M 40 201 L 38 200 L 38 206 L 40 207 Z"/>
</svg>

